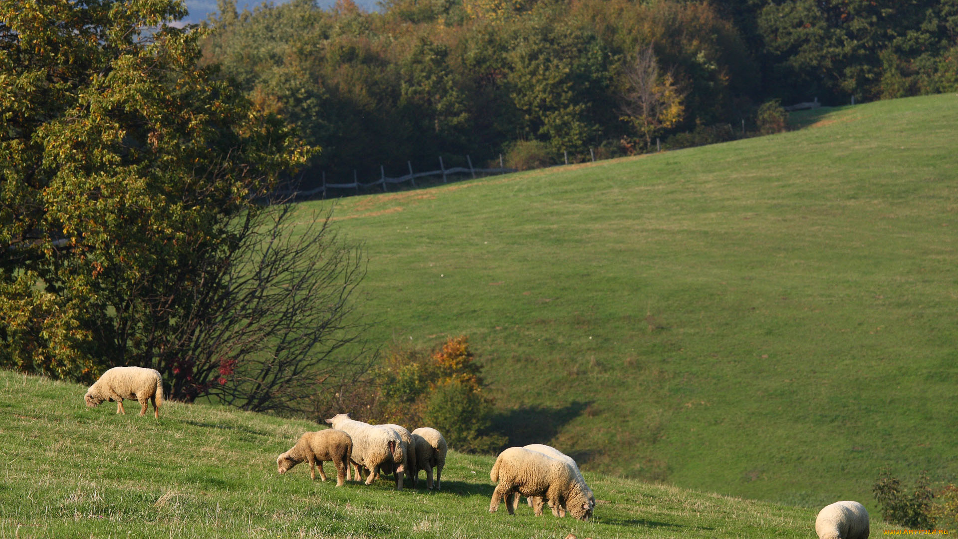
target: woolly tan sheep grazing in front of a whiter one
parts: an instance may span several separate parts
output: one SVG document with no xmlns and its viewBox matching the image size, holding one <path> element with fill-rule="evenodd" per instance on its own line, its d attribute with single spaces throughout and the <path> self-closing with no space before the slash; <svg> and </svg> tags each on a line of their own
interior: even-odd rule
<svg viewBox="0 0 958 539">
<path fill-rule="evenodd" d="M 557 507 L 566 507 L 579 520 L 588 520 L 592 514 L 594 505 L 582 492 L 582 484 L 577 480 L 575 470 L 558 458 L 547 457 L 523 447 L 511 447 L 496 457 L 489 477 L 498 482 L 492 491 L 490 513 L 494 513 L 499 508 L 499 502 L 505 499 L 506 509 L 514 515 L 512 497 L 518 493 L 526 498 L 545 497 Z M 554 514 L 557 514 L 555 510 Z M 536 516 L 539 515 L 541 511 Z"/>
</svg>

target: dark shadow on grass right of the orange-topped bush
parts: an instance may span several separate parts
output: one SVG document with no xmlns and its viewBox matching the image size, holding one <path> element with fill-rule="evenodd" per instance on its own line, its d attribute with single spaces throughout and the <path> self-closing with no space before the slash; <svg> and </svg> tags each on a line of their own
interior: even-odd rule
<svg viewBox="0 0 958 539">
<path fill-rule="evenodd" d="M 582 415 L 589 404 L 573 401 L 562 408 L 529 406 L 496 413 L 492 416 L 492 430 L 508 436 L 510 446 L 546 443 Z"/>
</svg>

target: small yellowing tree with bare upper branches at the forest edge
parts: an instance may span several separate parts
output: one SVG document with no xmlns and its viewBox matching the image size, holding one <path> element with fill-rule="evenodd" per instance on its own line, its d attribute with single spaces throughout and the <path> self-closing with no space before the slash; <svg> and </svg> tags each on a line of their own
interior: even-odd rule
<svg viewBox="0 0 958 539">
<path fill-rule="evenodd" d="M 682 120 L 684 96 L 675 86 L 672 73 L 659 74 L 652 46 L 641 49 L 625 69 L 626 93 L 623 119 L 631 122 L 650 147 L 652 136 Z"/>
</svg>

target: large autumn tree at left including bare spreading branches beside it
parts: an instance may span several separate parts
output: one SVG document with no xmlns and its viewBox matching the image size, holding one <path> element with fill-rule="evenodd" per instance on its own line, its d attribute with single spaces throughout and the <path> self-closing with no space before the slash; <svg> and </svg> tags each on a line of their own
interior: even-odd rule
<svg viewBox="0 0 958 539">
<path fill-rule="evenodd" d="M 153 365 L 176 398 L 283 408 L 355 336 L 358 251 L 260 204 L 313 149 L 199 66 L 184 14 L 0 0 L 0 363 Z"/>
</svg>

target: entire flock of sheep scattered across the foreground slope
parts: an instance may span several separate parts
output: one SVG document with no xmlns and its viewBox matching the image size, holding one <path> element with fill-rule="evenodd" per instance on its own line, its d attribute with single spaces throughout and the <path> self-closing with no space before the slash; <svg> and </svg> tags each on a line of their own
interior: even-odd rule
<svg viewBox="0 0 958 539">
<path fill-rule="evenodd" d="M 125 413 L 124 399 L 140 403 L 140 415 L 147 413 L 148 402 L 153 403 L 153 415 L 160 416 L 163 404 L 163 379 L 151 368 L 137 366 L 113 367 L 91 386 L 83 400 L 95 407 L 103 401 L 115 401 L 117 413 Z M 309 463 L 309 476 L 326 480 L 323 462 L 336 467 L 336 486 L 347 480 L 362 480 L 366 484 L 379 474 L 392 474 L 396 489 L 402 490 L 403 477 L 415 487 L 419 472 L 426 472 L 426 487 L 440 490 L 445 466 L 446 444 L 443 434 L 429 427 L 407 431 L 399 425 L 370 425 L 340 413 L 326 420 L 331 429 L 306 433 L 296 445 L 276 458 L 277 469 L 284 474 L 301 462 Z M 433 471 L 436 474 L 433 482 Z M 351 477 L 352 476 L 352 477 Z M 579 520 L 592 517 L 595 495 L 585 484 L 579 466 L 571 457 L 554 447 L 532 444 L 511 447 L 499 454 L 490 471 L 490 480 L 496 482 L 492 492 L 490 512 L 505 501 L 509 514 L 515 514 L 519 496 L 525 496 L 536 516 L 543 514 L 548 504 L 553 515 L 566 513 Z M 868 511 L 857 502 L 836 502 L 827 505 L 815 519 L 815 533 L 819 539 L 868 539 Z"/>
</svg>

